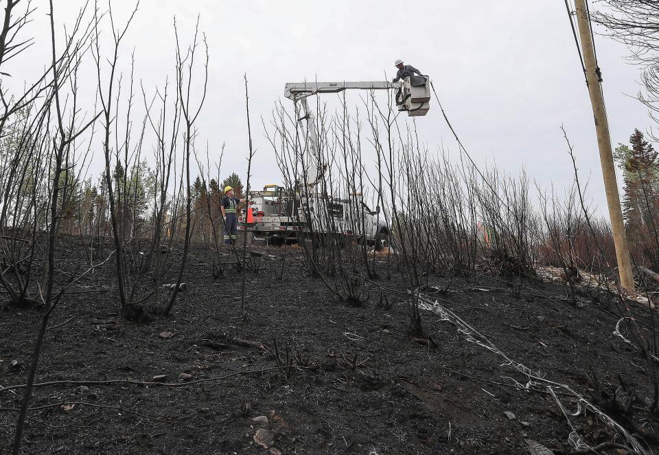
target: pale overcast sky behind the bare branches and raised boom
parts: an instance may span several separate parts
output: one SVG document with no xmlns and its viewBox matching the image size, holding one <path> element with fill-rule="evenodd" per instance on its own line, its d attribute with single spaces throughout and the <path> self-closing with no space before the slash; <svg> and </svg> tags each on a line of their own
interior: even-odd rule
<svg viewBox="0 0 659 455">
<path fill-rule="evenodd" d="M 36 45 L 5 67 L 14 83 L 32 79 L 47 58 L 47 3 L 34 1 L 38 10 L 30 33 L 36 36 Z M 70 21 L 83 3 L 55 0 L 56 23 Z M 590 197 L 604 208 L 592 110 L 564 2 L 419 0 L 413 7 L 410 4 L 142 0 L 122 58 L 128 62 L 135 49 L 135 73 L 146 87 L 162 85 L 167 74 L 172 80 L 173 18 L 181 40 L 189 42 L 199 15 L 210 66 L 198 134 L 204 143 L 208 140 L 211 158 L 226 143 L 223 176 L 232 171 L 246 174 L 246 73 L 257 149 L 255 186 L 281 182 L 259 116 L 270 116 L 283 98 L 286 82 L 369 81 L 384 79 L 385 74 L 391 79 L 393 61 L 401 58 L 432 77 L 452 124 L 481 166 L 496 162 L 513 174 L 525 168 L 540 186 L 564 188 L 573 180 L 559 129 L 564 125 L 575 145 L 581 175 L 590 177 Z M 106 8 L 103 1 L 100 5 Z M 134 5 L 131 0 L 113 0 L 117 21 L 125 20 Z M 638 91 L 639 74 L 624 60 L 627 49 L 601 36 L 596 42 L 615 147 L 627 142 L 634 127 L 645 131 L 651 121 L 645 108 L 629 96 Z M 92 110 L 95 81 L 91 73 L 84 79 Z M 384 96 L 380 95 L 383 101 Z M 360 103 L 358 94 L 347 99 Z M 417 127 L 431 151 L 443 144 L 457 154 L 436 103 L 431 103 L 427 116 L 417 119 Z"/>
</svg>

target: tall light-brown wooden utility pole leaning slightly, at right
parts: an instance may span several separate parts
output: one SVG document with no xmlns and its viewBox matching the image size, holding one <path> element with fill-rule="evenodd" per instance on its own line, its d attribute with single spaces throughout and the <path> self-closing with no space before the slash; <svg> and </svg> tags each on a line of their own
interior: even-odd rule
<svg viewBox="0 0 659 455">
<path fill-rule="evenodd" d="M 577 24 L 579 25 L 579 38 L 581 38 L 581 51 L 583 52 L 583 60 L 586 65 L 586 81 L 588 82 L 590 102 L 592 103 L 592 114 L 594 115 L 595 120 L 597 145 L 599 146 L 599 159 L 602 164 L 606 201 L 609 207 L 611 228 L 613 230 L 613 241 L 616 245 L 620 283 L 630 295 L 635 295 L 636 291 L 634 289 L 632 260 L 629 257 L 629 246 L 627 245 L 627 235 L 625 234 L 623 211 L 620 206 L 620 195 L 618 195 L 616 168 L 611 150 L 609 123 L 604 109 L 604 96 L 602 93 L 599 68 L 597 66 L 597 61 L 595 60 L 592 32 L 590 30 L 590 18 L 588 17 L 586 1 L 587 0 L 575 0 L 575 5 L 577 6 Z"/>
</svg>

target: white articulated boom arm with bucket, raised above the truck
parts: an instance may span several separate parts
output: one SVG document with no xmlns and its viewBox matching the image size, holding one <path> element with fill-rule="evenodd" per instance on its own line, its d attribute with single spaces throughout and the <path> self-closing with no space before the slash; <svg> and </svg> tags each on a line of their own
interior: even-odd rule
<svg viewBox="0 0 659 455">
<path fill-rule="evenodd" d="M 316 123 L 309 109 L 307 98 L 322 93 L 339 93 L 343 90 L 391 90 L 397 89 L 396 105 L 399 111 L 406 111 L 409 116 L 422 116 L 428 112 L 430 101 L 430 82 L 428 76 L 406 77 L 400 82 L 366 81 L 366 82 L 288 82 L 284 88 L 284 97 L 295 103 L 297 121 L 307 121 L 309 151 L 317 163 L 315 178 L 308 175 L 306 184 L 314 186 L 325 173 L 327 166 L 316 143 Z M 304 116 L 299 116 L 297 101 L 301 101 Z M 308 162 L 308 168 L 310 162 Z"/>
</svg>

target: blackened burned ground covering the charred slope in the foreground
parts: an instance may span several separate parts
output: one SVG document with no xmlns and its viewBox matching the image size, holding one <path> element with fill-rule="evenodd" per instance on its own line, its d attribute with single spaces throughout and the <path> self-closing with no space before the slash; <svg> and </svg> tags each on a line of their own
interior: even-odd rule
<svg viewBox="0 0 659 455">
<path fill-rule="evenodd" d="M 76 241 L 60 245 L 60 268 L 77 267 L 76 251 Z M 369 302 L 355 308 L 303 271 L 299 250 L 285 261 L 284 249 L 261 251 L 262 269 L 247 273 L 244 320 L 240 274 L 227 267 L 213 278 L 203 245 L 192 248 L 188 288 L 170 317 L 120 317 L 111 262 L 72 286 L 36 382 L 82 382 L 36 387 L 23 453 L 526 454 L 527 440 L 570 450 L 573 429 L 555 399 L 512 386 L 520 377 L 500 356 L 432 312 L 424 328 L 437 347 L 408 335 L 406 283 L 400 273 L 386 278 L 386 258 L 367 282 Z M 603 304 L 571 304 L 557 284 L 429 282 L 445 290 L 432 294 L 441 305 L 545 378 L 589 397 L 587 374 L 603 384 L 619 376 L 651 396 L 645 363 L 612 334 L 618 317 Z M 24 384 L 41 312 L 5 306 L 0 315 L 0 386 Z M 20 399 L 21 389 L 0 389 L 0 453 Z M 559 399 L 577 411 L 573 398 Z M 257 433 L 260 416 L 268 431 Z M 588 413 L 570 422 L 590 444 L 612 440 Z"/>
</svg>

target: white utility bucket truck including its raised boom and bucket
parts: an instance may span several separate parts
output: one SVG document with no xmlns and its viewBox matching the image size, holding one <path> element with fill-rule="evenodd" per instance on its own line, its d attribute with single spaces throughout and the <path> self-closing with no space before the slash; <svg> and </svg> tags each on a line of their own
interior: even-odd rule
<svg viewBox="0 0 659 455">
<path fill-rule="evenodd" d="M 288 83 L 284 96 L 295 103 L 296 116 L 299 112 L 297 102 L 301 102 L 304 115 L 298 122 L 306 121 L 309 139 L 310 164 L 315 164 L 315 175 L 307 172 L 307 181 L 303 190 L 293 190 L 277 185 L 266 185 L 263 190 L 250 191 L 248 199 L 252 202 L 247 210 L 252 217 L 239 217 L 238 230 L 251 232 L 254 241 L 263 241 L 266 245 L 281 245 L 285 242 L 298 241 L 304 234 L 343 236 L 347 239 L 365 240 L 380 249 L 389 238 L 389 227 L 384 223 L 386 217 L 380 214 L 380 208 L 371 210 L 360 195 L 352 194 L 349 199 L 325 195 L 316 189 L 327 170 L 323 156 L 316 144 L 316 125 L 309 108 L 307 98 L 323 93 L 339 93 L 343 90 L 397 90 L 396 104 L 401 112 L 409 116 L 424 116 L 430 102 L 430 81 L 427 76 L 406 77 L 400 82 L 303 82 Z M 311 165 L 309 164 L 309 167 Z M 323 213 L 323 217 L 314 214 Z M 355 217 L 362 217 L 356 223 Z M 351 226 L 359 226 L 353 232 Z M 362 238 L 355 238 L 363 236 Z"/>
</svg>

